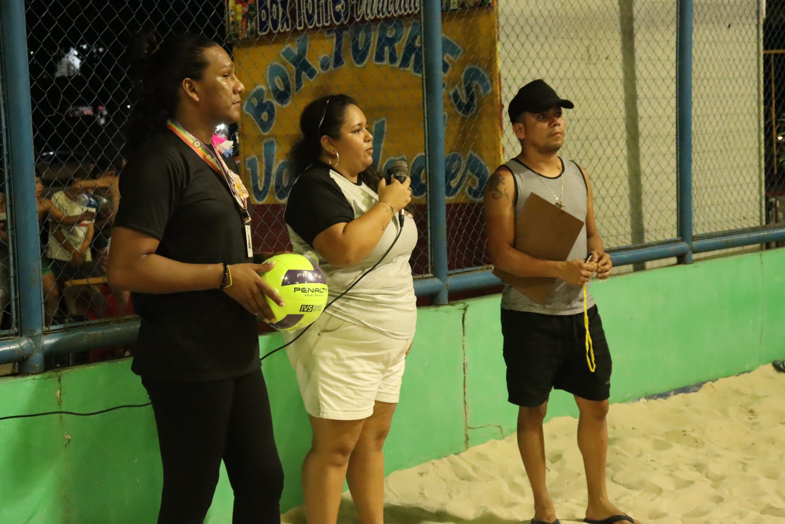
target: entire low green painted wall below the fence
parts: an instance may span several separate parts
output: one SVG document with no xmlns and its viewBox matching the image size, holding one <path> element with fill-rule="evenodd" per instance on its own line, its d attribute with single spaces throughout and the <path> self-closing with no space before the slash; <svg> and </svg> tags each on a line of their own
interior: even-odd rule
<svg viewBox="0 0 785 524">
<path fill-rule="evenodd" d="M 593 286 L 614 356 L 612 401 L 735 375 L 785 357 L 785 250 L 614 277 Z M 514 431 L 506 402 L 498 295 L 422 308 L 387 470 L 458 453 Z M 279 345 L 261 337 L 262 351 Z M 87 412 L 147 401 L 130 362 L 0 379 L 0 416 L 58 409 Z M 310 430 L 287 358 L 265 361 L 276 441 L 287 484 L 283 509 L 298 504 Z M 59 399 L 59 400 L 58 400 Z M 555 392 L 549 416 L 575 415 Z M 47 416 L 0 422 L 0 522 L 155 522 L 161 486 L 152 411 Z M 225 524 L 225 475 L 207 522 Z"/>
</svg>

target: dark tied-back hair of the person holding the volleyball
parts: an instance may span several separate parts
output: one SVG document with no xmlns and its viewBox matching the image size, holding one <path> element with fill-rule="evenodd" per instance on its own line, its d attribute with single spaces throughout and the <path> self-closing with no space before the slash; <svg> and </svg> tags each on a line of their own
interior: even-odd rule
<svg viewBox="0 0 785 524">
<path fill-rule="evenodd" d="M 135 78 L 133 108 L 126 123 L 123 156 L 128 156 L 152 134 L 166 129 L 180 99 L 184 79 L 200 80 L 208 62 L 206 49 L 218 46 L 210 38 L 184 33 L 158 42 L 152 31 L 133 35 L 128 55 Z"/>
</svg>

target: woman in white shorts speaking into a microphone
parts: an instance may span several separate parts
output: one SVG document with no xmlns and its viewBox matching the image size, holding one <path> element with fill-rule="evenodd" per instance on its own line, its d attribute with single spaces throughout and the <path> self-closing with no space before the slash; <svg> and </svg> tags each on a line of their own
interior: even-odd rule
<svg viewBox="0 0 785 524">
<path fill-rule="evenodd" d="M 296 253 L 314 250 L 334 302 L 287 348 L 312 427 L 302 466 L 309 524 L 338 519 L 344 480 L 362 524 L 382 524 L 385 442 L 417 321 L 409 258 L 417 242 L 410 180 L 371 167 L 371 133 L 344 94 L 309 103 L 289 153 L 284 218 Z M 396 236 L 400 237 L 396 241 Z M 394 244 L 393 244 L 394 243 Z"/>
</svg>

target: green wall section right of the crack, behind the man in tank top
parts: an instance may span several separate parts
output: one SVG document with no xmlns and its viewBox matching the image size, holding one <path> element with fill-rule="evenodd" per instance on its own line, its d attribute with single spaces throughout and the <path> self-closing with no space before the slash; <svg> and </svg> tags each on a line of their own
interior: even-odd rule
<svg viewBox="0 0 785 524">
<path fill-rule="evenodd" d="M 785 358 L 785 250 L 593 281 L 613 356 L 611 401 L 624 402 L 750 371 Z M 489 302 L 492 302 L 492 307 Z M 506 403 L 498 298 L 466 303 L 468 442 L 515 431 Z M 577 416 L 555 391 L 552 416 Z"/>
</svg>

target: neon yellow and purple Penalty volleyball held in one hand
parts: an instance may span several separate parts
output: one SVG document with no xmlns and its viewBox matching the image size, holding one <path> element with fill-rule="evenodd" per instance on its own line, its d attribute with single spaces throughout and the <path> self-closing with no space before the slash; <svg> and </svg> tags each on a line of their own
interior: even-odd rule
<svg viewBox="0 0 785 524">
<path fill-rule="evenodd" d="M 281 307 L 267 298 L 272 313 L 276 315 L 270 325 L 281 331 L 294 331 L 319 318 L 327 304 L 327 280 L 319 266 L 294 253 L 275 255 L 265 262 L 275 262 L 276 265 L 261 278 L 286 304 Z"/>
</svg>

